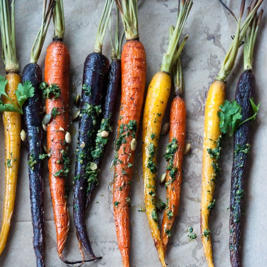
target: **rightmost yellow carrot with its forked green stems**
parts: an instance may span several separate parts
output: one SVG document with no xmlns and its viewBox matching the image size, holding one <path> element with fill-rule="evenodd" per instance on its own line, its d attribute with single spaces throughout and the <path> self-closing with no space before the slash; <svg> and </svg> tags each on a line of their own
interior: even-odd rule
<svg viewBox="0 0 267 267">
<path fill-rule="evenodd" d="M 209 267 L 213 267 L 212 246 L 210 228 L 208 218 L 210 211 L 215 206 L 213 198 L 216 179 L 220 167 L 218 166 L 218 159 L 221 156 L 221 132 L 219 129 L 219 107 L 225 100 L 226 79 L 234 67 L 234 61 L 251 20 L 253 19 L 257 9 L 263 0 L 257 1 L 256 6 L 250 12 L 246 20 L 241 24 L 241 17 L 243 16 L 245 0 L 241 2 L 239 19 L 237 22 L 237 30 L 234 40 L 230 46 L 229 52 L 221 66 L 215 82 L 212 83 L 205 107 L 205 121 L 204 121 L 204 141 L 203 141 L 203 159 L 202 159 L 202 194 L 201 194 L 201 214 L 200 214 L 200 232 L 202 236 L 203 250 Z"/>
</svg>

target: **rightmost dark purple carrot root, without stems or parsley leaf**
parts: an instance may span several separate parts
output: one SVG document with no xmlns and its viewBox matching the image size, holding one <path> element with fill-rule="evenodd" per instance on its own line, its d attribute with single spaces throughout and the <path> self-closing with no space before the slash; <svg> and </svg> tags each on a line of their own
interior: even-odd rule
<svg viewBox="0 0 267 267">
<path fill-rule="evenodd" d="M 252 116 L 250 98 L 255 91 L 255 76 L 251 69 L 244 71 L 237 83 L 235 100 L 241 106 L 242 121 Z M 234 132 L 234 159 L 230 197 L 230 260 L 233 267 L 241 266 L 241 218 L 244 183 L 247 178 L 251 141 L 251 122 L 247 121 Z"/>
</svg>

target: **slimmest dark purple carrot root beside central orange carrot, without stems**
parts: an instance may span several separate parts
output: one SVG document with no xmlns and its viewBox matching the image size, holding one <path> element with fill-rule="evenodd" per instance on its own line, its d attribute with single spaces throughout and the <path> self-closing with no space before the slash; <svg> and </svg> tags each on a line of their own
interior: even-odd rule
<svg viewBox="0 0 267 267">
<path fill-rule="evenodd" d="M 106 131 L 108 134 L 112 131 L 112 122 L 113 122 L 113 112 L 116 106 L 117 100 L 117 91 L 121 83 L 121 61 L 120 59 L 113 59 L 107 75 L 107 83 L 106 83 L 106 96 L 103 104 L 103 117 L 100 124 L 100 130 L 98 131 L 96 137 L 96 147 L 95 150 L 92 151 L 92 161 L 96 164 L 98 169 L 91 173 L 92 175 L 97 175 L 100 171 L 101 161 L 104 155 L 105 147 L 108 143 L 109 136 L 102 137 L 101 132 Z M 98 184 L 98 180 L 94 180 L 94 183 L 89 184 L 86 193 L 86 202 L 85 208 L 88 206 L 92 193 L 94 191 L 95 186 Z M 96 180 L 96 181 L 95 181 Z"/>
</svg>

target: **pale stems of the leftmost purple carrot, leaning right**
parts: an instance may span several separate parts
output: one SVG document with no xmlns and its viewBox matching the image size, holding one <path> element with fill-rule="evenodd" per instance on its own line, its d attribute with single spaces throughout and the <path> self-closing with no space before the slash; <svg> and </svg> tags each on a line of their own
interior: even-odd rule
<svg viewBox="0 0 267 267">
<path fill-rule="evenodd" d="M 46 38 L 46 33 L 52 16 L 54 3 L 55 3 L 54 0 L 50 0 L 47 8 L 47 1 L 46 0 L 44 1 L 42 24 L 33 43 L 33 48 L 31 52 L 31 63 L 37 63 L 40 57 L 40 53 Z"/>
</svg>

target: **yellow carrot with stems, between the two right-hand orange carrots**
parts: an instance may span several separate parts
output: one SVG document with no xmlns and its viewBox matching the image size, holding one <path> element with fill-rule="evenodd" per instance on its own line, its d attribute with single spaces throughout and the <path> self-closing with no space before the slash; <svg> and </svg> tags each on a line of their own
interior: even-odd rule
<svg viewBox="0 0 267 267">
<path fill-rule="evenodd" d="M 167 52 L 163 55 L 160 71 L 157 72 L 149 85 L 143 118 L 143 177 L 146 213 L 150 230 L 162 266 L 165 263 L 165 251 L 161 241 L 159 218 L 156 210 L 156 177 L 157 177 L 157 150 L 160 139 L 162 119 L 165 114 L 168 98 L 171 91 L 170 72 L 175 58 L 181 53 L 185 40 L 179 47 L 177 45 L 182 34 L 185 20 L 192 7 L 192 0 L 182 1 L 179 6 L 176 26 L 171 34 Z M 167 229 L 166 229 L 167 231 Z M 170 236 L 170 234 L 169 234 Z"/>
</svg>

